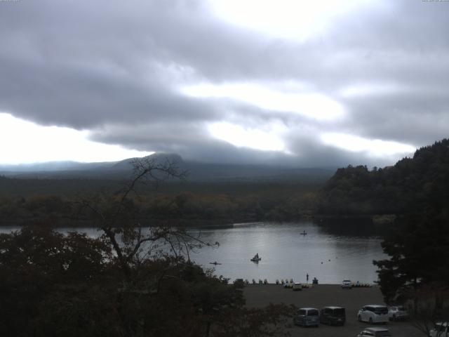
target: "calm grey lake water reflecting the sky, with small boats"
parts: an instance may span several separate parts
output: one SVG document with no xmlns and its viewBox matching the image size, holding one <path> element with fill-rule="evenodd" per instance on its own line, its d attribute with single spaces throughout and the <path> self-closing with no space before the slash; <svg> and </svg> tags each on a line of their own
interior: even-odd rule
<svg viewBox="0 0 449 337">
<path fill-rule="evenodd" d="M 4 227 L 11 232 L 17 227 Z M 87 232 L 95 237 L 94 228 L 65 228 Z M 300 233 L 307 232 L 306 235 Z M 316 277 L 321 284 L 340 284 L 343 279 L 373 283 L 377 280 L 373 260 L 386 258 L 380 237 L 362 225 L 319 226 L 311 221 L 299 223 L 236 224 L 233 228 L 189 230 L 201 234 L 206 242 L 219 242 L 217 248 L 204 247 L 191 254 L 203 267 L 214 267 L 216 275 L 236 278 L 293 279 L 306 282 Z M 250 261 L 255 253 L 262 260 Z M 217 261 L 221 265 L 211 265 Z"/>
</svg>

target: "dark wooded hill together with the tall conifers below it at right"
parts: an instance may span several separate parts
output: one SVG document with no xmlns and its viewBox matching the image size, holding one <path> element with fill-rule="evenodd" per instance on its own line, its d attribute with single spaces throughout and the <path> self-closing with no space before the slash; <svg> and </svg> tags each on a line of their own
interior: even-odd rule
<svg viewBox="0 0 449 337">
<path fill-rule="evenodd" d="M 338 169 L 321 189 L 317 212 L 329 217 L 389 215 L 375 260 L 389 304 L 408 304 L 413 322 L 429 336 L 449 319 L 449 140 L 422 147 L 383 169 Z"/>
</svg>

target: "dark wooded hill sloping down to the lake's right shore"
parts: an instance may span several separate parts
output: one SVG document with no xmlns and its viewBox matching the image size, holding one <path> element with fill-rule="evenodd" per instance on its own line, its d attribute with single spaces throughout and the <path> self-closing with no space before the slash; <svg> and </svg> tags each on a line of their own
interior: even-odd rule
<svg viewBox="0 0 449 337">
<path fill-rule="evenodd" d="M 449 212 L 449 140 L 417 150 L 394 166 L 338 169 L 323 187 L 319 213 L 409 213 L 428 204 Z"/>
</svg>

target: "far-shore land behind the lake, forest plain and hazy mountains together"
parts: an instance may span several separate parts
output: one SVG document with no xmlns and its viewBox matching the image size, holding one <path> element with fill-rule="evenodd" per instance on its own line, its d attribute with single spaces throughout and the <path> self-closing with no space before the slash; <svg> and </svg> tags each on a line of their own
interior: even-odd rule
<svg viewBox="0 0 449 337">
<path fill-rule="evenodd" d="M 10 166 L 16 171 L 0 176 L 0 225 L 23 225 L 36 218 L 58 226 L 92 225 L 78 201 L 121 190 L 133 177 L 136 160 Z M 182 180 L 149 182 L 136 188 L 130 199 L 133 216 L 147 225 L 224 226 L 309 217 L 319 187 L 334 172 L 194 163 L 176 154 L 153 154 L 145 160 L 156 166 L 168 162 L 178 172 L 187 173 Z"/>
</svg>

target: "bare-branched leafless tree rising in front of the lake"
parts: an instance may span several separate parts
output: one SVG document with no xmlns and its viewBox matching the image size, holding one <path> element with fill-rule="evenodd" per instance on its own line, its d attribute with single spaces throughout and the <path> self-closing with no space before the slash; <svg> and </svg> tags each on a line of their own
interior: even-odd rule
<svg viewBox="0 0 449 337">
<path fill-rule="evenodd" d="M 127 278 L 132 267 L 152 256 L 185 256 L 201 246 L 217 246 L 201 239 L 201 232 L 189 234 L 182 228 L 140 223 L 131 197 L 139 198 L 138 187 L 152 184 L 157 187 L 170 179 L 184 179 L 187 171 L 180 170 L 175 159 L 150 157 L 134 159 L 133 177 L 123 189 L 113 194 L 82 199 L 80 203 L 91 211 L 95 225 L 102 231 L 102 239 L 112 245 L 121 270 Z"/>
</svg>

